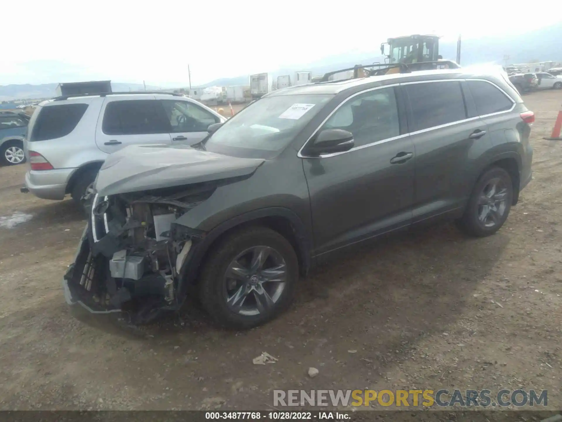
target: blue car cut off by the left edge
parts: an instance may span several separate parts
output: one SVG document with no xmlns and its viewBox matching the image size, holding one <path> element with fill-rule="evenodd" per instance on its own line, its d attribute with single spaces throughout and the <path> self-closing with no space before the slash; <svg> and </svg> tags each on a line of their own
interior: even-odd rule
<svg viewBox="0 0 562 422">
<path fill-rule="evenodd" d="M 25 113 L 0 111 L 0 162 L 16 165 L 25 162 L 24 138 L 29 116 Z"/>
</svg>

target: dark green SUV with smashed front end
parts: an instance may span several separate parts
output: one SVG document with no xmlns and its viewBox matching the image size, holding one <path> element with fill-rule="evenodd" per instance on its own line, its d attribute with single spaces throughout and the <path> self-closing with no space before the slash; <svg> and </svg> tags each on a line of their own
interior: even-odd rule
<svg viewBox="0 0 562 422">
<path fill-rule="evenodd" d="M 192 147 L 108 156 L 67 302 L 140 324 L 197 297 L 251 327 L 345 246 L 434 219 L 495 233 L 531 180 L 533 112 L 502 71 L 404 68 L 280 89 Z"/>
</svg>

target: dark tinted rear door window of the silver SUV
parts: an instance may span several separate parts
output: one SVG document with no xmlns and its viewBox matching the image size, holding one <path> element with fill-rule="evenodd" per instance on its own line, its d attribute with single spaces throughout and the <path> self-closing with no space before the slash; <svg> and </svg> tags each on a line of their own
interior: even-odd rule
<svg viewBox="0 0 562 422">
<path fill-rule="evenodd" d="M 158 100 L 111 101 L 103 115 L 102 131 L 108 135 L 170 133 L 170 120 Z"/>
</svg>

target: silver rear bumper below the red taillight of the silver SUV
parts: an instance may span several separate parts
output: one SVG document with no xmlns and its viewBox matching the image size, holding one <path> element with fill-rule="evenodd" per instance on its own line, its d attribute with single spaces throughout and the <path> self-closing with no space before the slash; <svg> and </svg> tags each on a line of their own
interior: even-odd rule
<svg viewBox="0 0 562 422">
<path fill-rule="evenodd" d="M 76 171 L 75 168 L 34 171 L 25 173 L 25 187 L 33 195 L 42 199 L 62 200 L 66 195 L 66 185 Z"/>
</svg>

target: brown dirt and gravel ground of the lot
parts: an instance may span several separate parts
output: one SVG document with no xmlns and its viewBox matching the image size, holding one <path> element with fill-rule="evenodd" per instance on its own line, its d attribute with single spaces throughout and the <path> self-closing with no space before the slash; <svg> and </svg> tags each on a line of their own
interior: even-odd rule
<svg viewBox="0 0 562 422">
<path fill-rule="evenodd" d="M 0 410 L 266 409 L 273 389 L 401 387 L 548 389 L 561 408 L 562 143 L 542 137 L 562 95 L 525 101 L 534 180 L 498 234 L 442 225 L 353 250 L 242 333 L 198 311 L 143 336 L 75 318 L 61 277 L 85 221 L 70 201 L 20 194 L 25 165 L 0 168 L 0 216 L 32 216 L 0 219 Z M 279 361 L 253 365 L 262 351 Z"/>
</svg>

